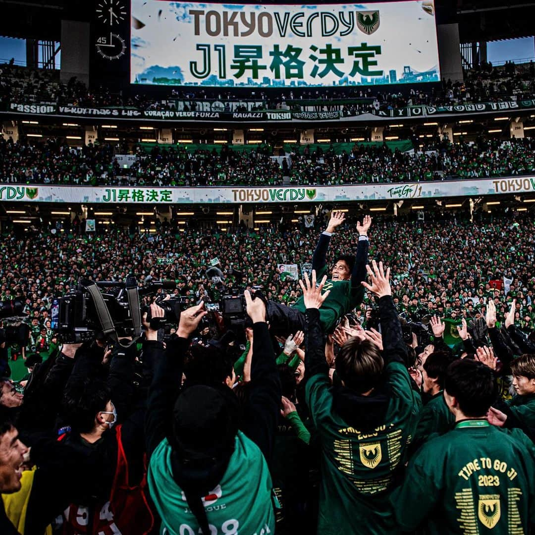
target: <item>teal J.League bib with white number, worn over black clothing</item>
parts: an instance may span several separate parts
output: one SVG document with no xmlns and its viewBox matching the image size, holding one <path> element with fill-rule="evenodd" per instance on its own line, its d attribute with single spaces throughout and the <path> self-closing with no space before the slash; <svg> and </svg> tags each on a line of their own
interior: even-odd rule
<svg viewBox="0 0 535 535">
<path fill-rule="evenodd" d="M 158 515 L 160 533 L 194 535 L 199 530 L 186 496 L 172 475 L 171 446 L 162 440 L 150 457 L 149 490 Z M 267 535 L 275 529 L 268 464 L 258 446 L 241 431 L 219 485 L 202 499 L 212 533 Z"/>
</svg>

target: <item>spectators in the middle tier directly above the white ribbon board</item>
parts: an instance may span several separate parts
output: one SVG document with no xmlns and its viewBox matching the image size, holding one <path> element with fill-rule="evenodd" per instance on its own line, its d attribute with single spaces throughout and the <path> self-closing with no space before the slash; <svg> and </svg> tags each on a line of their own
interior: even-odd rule
<svg viewBox="0 0 535 535">
<path fill-rule="evenodd" d="M 502 143 L 478 137 L 475 143 L 427 139 L 417 151 L 401 152 L 387 144 L 293 147 L 279 158 L 268 144 L 250 151 L 139 146 L 129 169 L 121 168 L 110 144 L 81 149 L 50 139 L 45 143 L 0 139 L 0 182 L 87 186 L 229 186 L 343 185 L 408 182 L 448 178 L 489 178 L 532 174 L 531 138 Z M 285 178 L 286 177 L 286 178 Z"/>
</svg>

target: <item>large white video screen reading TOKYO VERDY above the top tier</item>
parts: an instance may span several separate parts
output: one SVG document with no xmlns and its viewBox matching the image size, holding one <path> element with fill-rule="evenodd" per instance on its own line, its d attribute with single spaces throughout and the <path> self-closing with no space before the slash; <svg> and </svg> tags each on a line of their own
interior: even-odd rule
<svg viewBox="0 0 535 535">
<path fill-rule="evenodd" d="M 440 81 L 432 0 L 132 0 L 131 83 L 307 87 Z"/>
</svg>

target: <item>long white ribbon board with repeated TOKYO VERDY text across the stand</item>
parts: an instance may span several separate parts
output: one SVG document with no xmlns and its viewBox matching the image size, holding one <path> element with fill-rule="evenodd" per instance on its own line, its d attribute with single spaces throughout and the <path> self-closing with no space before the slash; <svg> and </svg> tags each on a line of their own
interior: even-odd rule
<svg viewBox="0 0 535 535">
<path fill-rule="evenodd" d="M 535 192 L 535 175 L 444 182 L 412 182 L 410 184 L 317 187 L 150 188 L 0 185 L 0 201 L 104 204 L 295 203 L 472 197 L 533 192 Z"/>
</svg>

